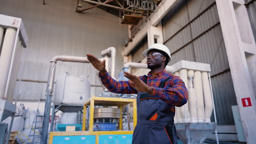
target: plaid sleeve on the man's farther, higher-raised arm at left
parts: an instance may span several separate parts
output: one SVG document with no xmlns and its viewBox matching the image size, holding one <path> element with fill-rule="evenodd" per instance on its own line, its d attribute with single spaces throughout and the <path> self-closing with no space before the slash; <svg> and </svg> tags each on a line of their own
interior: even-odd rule
<svg viewBox="0 0 256 144">
<path fill-rule="evenodd" d="M 116 81 L 114 80 L 106 71 L 105 73 L 99 73 L 101 82 L 108 91 L 117 93 L 117 94 L 138 94 L 138 91 L 129 84 L 128 81 Z M 139 76 L 143 80 L 144 76 Z"/>
</svg>

